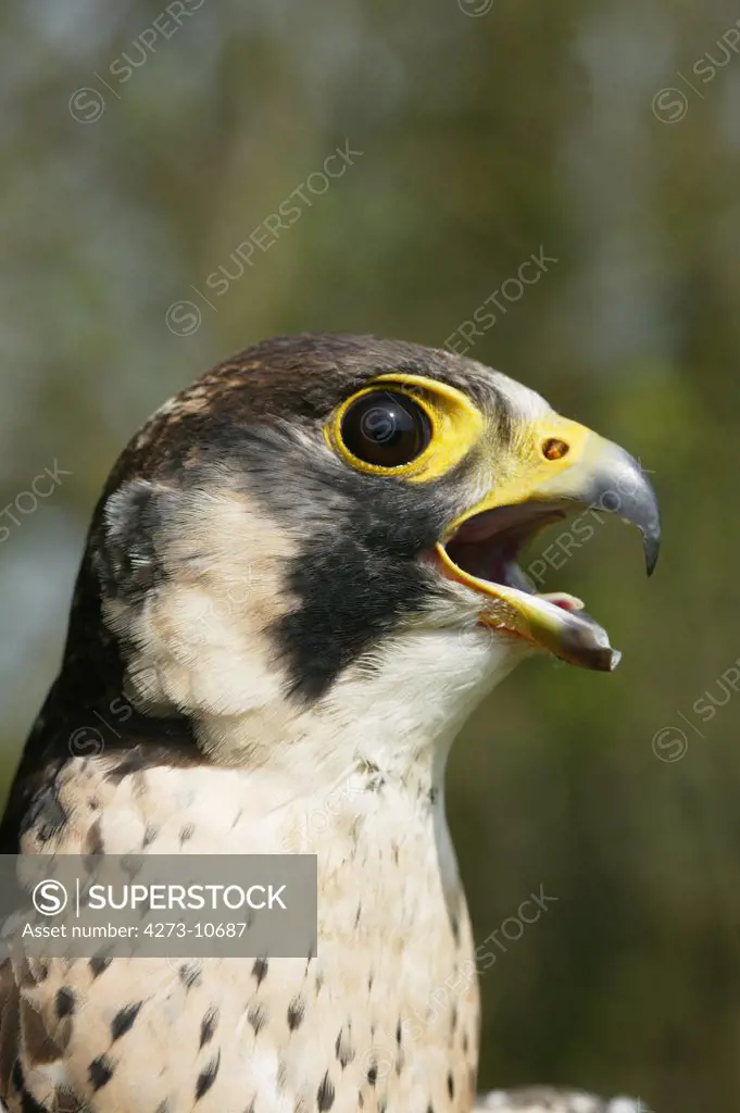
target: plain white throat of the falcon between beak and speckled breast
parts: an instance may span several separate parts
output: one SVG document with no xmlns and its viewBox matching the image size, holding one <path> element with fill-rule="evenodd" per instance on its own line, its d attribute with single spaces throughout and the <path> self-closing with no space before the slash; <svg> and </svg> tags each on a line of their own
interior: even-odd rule
<svg viewBox="0 0 740 1113">
<path fill-rule="evenodd" d="M 246 758 L 294 786 L 328 787 L 369 769 L 399 786 L 441 788 L 455 735 L 523 656 L 513 639 L 485 630 L 406 630 L 347 668 L 310 708 L 278 689 L 244 715 L 197 717 L 199 740 L 219 762 Z"/>
</svg>

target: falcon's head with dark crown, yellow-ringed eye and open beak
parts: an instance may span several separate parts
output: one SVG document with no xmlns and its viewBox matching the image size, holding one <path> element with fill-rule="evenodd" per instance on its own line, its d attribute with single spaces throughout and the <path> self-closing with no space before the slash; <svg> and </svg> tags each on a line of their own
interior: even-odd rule
<svg viewBox="0 0 740 1113">
<path fill-rule="evenodd" d="M 580 600 L 539 593 L 520 563 L 589 506 L 638 526 L 652 571 L 639 465 L 533 391 L 372 336 L 259 344 L 116 465 L 60 682 L 87 707 L 125 692 L 149 720 L 185 719 L 225 762 L 316 731 L 325 750 L 452 737 L 529 651 L 618 662 Z"/>
</svg>

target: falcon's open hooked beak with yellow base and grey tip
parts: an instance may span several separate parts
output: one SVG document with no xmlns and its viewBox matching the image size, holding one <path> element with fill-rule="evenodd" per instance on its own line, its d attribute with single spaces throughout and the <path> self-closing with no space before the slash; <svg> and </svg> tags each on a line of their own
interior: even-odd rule
<svg viewBox="0 0 740 1113">
<path fill-rule="evenodd" d="M 581 600 L 536 593 L 516 562 L 536 533 L 579 511 L 584 538 L 588 523 L 602 521 L 602 512 L 637 525 L 652 573 L 660 515 L 640 465 L 618 445 L 553 414 L 533 426 L 496 486 L 451 524 L 436 546 L 436 560 L 444 575 L 483 597 L 482 623 L 524 638 L 571 664 L 610 671 L 621 654 Z M 592 535 L 593 526 L 588 533 Z M 575 541 L 573 548 L 581 543 Z"/>
</svg>

